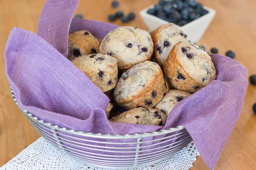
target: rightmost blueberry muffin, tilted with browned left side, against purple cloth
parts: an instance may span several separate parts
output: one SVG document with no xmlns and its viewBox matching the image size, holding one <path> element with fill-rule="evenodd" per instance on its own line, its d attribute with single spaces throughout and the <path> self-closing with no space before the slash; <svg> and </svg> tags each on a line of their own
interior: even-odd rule
<svg viewBox="0 0 256 170">
<path fill-rule="evenodd" d="M 216 79 L 211 57 L 195 44 L 176 44 L 163 66 L 165 75 L 177 89 L 196 92 Z"/>
</svg>

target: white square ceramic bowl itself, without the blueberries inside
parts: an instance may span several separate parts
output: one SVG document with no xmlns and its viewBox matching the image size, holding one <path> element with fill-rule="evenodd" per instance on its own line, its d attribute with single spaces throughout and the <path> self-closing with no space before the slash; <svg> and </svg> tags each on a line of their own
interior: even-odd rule
<svg viewBox="0 0 256 170">
<path fill-rule="evenodd" d="M 154 29 L 160 27 L 163 24 L 167 24 L 168 21 L 160 19 L 154 15 L 150 15 L 147 13 L 148 9 L 154 8 L 154 5 L 147 7 L 140 11 L 140 16 L 146 23 L 147 27 L 153 31 Z M 187 34 L 187 39 L 190 40 L 192 43 L 196 43 L 201 39 L 204 35 L 204 32 L 208 28 L 209 24 L 211 23 L 212 19 L 215 16 L 216 11 L 209 7 L 204 6 L 204 9 L 208 11 L 206 15 L 199 17 L 196 20 L 193 20 L 181 27 L 182 31 Z"/>
</svg>

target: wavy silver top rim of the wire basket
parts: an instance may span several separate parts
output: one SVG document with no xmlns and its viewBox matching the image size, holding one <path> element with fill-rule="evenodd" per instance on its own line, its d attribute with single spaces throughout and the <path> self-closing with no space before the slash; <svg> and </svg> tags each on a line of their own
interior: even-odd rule
<svg viewBox="0 0 256 170">
<path fill-rule="evenodd" d="M 136 133 L 136 134 L 133 134 L 133 135 L 130 135 L 130 134 L 125 134 L 125 135 L 106 134 L 106 135 L 103 135 L 101 133 L 94 134 L 94 133 L 91 133 L 91 132 L 86 133 L 84 131 L 76 131 L 74 129 L 67 129 L 66 127 L 60 127 L 59 125 L 54 125 L 54 123 L 46 123 L 44 120 L 40 120 L 38 117 L 34 116 L 29 111 L 23 110 L 22 108 L 20 108 L 20 106 L 16 102 L 15 95 L 14 95 L 14 92 L 11 88 L 11 85 L 9 85 L 9 87 L 10 87 L 10 92 L 11 92 L 12 99 L 14 100 L 14 102 L 18 106 L 18 108 L 23 112 L 23 114 L 25 114 L 27 119 L 31 119 L 34 122 L 37 122 L 39 124 L 42 124 L 43 126 L 49 127 L 52 130 L 57 130 L 57 131 L 61 131 L 61 132 L 68 133 L 68 134 L 73 134 L 73 135 L 78 135 L 78 136 L 86 136 L 86 137 L 94 137 L 94 138 L 112 138 L 112 139 L 128 139 L 129 138 L 130 139 L 130 138 L 154 137 L 154 136 L 158 136 L 158 135 L 173 133 L 173 132 L 176 132 L 176 131 L 179 131 L 179 130 L 187 131 L 184 126 L 177 126 L 177 127 L 171 127 L 168 130 L 161 130 L 159 132 L 154 131 L 152 133 L 142 133 L 142 134 L 141 133 L 139 133 L 139 134 Z"/>
</svg>

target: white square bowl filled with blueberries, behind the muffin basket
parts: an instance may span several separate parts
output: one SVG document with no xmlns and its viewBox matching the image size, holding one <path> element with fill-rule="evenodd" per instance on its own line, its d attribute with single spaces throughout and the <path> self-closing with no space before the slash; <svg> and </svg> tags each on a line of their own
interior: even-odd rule
<svg viewBox="0 0 256 170">
<path fill-rule="evenodd" d="M 140 16 L 150 30 L 166 23 L 179 25 L 188 40 L 195 43 L 201 39 L 215 13 L 196 0 L 160 0 L 140 11 Z"/>
</svg>

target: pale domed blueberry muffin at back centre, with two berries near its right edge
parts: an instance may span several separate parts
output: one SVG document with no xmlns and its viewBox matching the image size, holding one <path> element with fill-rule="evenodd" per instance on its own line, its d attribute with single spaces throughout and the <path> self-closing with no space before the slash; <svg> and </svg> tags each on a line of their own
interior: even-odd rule
<svg viewBox="0 0 256 170">
<path fill-rule="evenodd" d="M 110 31 L 99 46 L 101 54 L 118 60 L 118 72 L 125 72 L 135 64 L 151 59 L 153 41 L 147 31 L 138 27 L 118 27 Z"/>
</svg>

